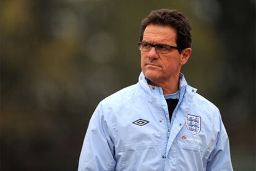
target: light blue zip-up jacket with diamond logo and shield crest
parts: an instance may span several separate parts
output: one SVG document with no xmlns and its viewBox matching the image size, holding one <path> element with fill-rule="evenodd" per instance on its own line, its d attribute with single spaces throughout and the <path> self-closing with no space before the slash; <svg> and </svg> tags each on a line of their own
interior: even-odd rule
<svg viewBox="0 0 256 171">
<path fill-rule="evenodd" d="M 218 108 L 180 77 L 169 122 L 160 87 L 140 74 L 136 85 L 98 104 L 79 159 L 82 170 L 233 170 Z"/>
</svg>

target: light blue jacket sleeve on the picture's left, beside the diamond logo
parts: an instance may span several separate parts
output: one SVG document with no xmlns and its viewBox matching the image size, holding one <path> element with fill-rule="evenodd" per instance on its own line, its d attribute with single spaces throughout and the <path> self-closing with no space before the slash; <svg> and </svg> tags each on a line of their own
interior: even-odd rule
<svg viewBox="0 0 256 171">
<path fill-rule="evenodd" d="M 103 112 L 99 104 L 92 115 L 80 153 L 79 171 L 114 170 L 114 144 Z"/>
</svg>

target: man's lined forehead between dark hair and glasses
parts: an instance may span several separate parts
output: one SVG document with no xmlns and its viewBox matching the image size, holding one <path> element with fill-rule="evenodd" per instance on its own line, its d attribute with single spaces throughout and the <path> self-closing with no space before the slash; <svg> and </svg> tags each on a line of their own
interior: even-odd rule
<svg viewBox="0 0 256 171">
<path fill-rule="evenodd" d="M 143 40 L 148 43 L 176 44 L 176 30 L 169 26 L 148 25 L 143 33 Z M 174 43 L 174 44 L 173 44 Z"/>
</svg>

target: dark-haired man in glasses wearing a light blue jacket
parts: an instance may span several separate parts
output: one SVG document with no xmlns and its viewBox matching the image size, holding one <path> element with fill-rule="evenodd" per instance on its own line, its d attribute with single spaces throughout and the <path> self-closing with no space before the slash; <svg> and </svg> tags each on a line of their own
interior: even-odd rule
<svg viewBox="0 0 256 171">
<path fill-rule="evenodd" d="M 177 10 L 142 21 L 142 73 L 136 85 L 100 102 L 79 170 L 233 170 L 220 112 L 187 85 L 190 25 Z"/>
</svg>

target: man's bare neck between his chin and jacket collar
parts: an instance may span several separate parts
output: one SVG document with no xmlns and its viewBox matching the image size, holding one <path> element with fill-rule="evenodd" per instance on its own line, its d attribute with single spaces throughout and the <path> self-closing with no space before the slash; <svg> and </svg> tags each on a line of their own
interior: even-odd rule
<svg viewBox="0 0 256 171">
<path fill-rule="evenodd" d="M 163 88 L 163 94 L 173 94 L 179 90 L 179 75 L 178 77 L 171 78 L 168 81 L 151 81 L 150 85 L 160 86 Z"/>
</svg>

